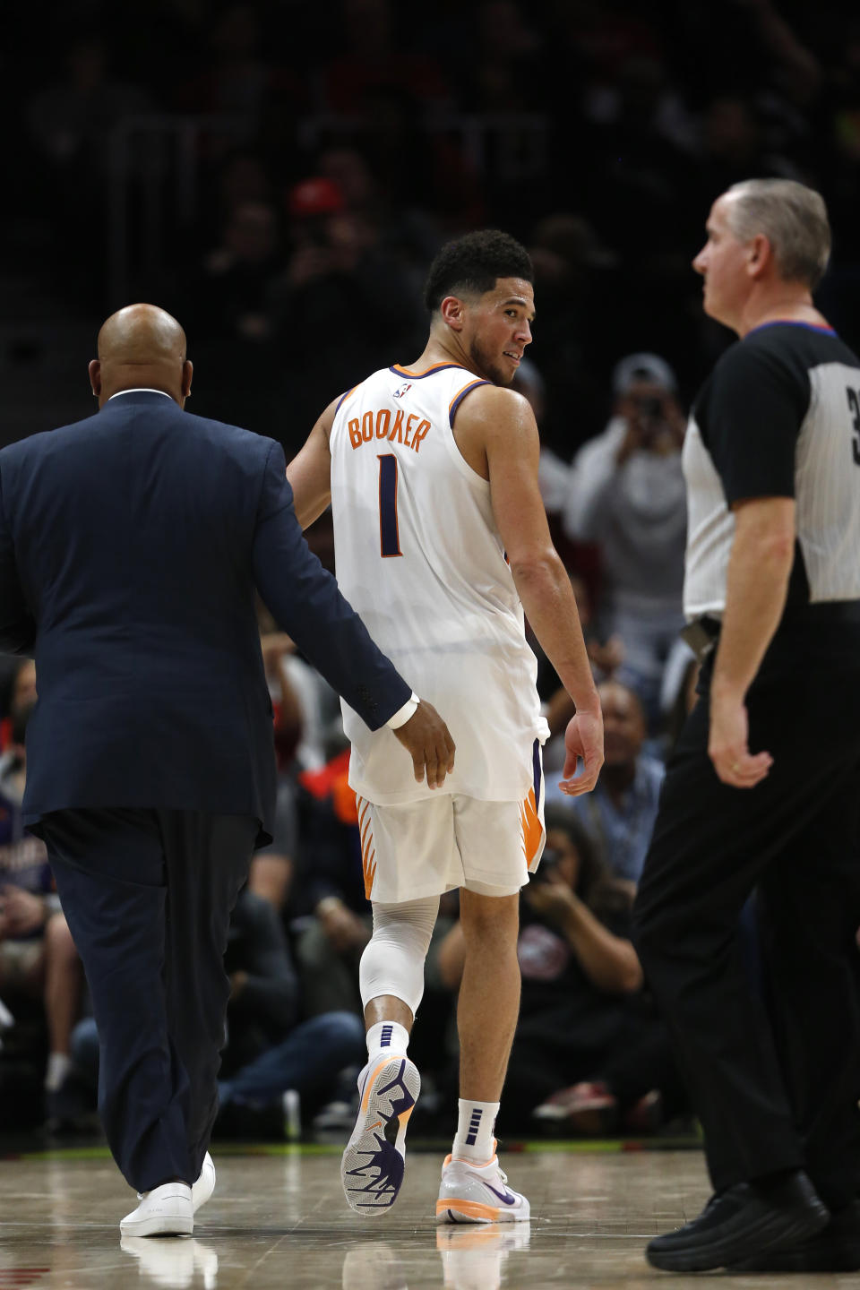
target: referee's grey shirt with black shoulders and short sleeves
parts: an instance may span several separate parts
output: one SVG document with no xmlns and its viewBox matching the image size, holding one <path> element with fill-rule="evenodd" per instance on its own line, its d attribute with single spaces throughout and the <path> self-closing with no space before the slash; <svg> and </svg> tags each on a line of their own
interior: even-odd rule
<svg viewBox="0 0 860 1290">
<path fill-rule="evenodd" d="M 731 506 L 793 497 L 788 608 L 860 600 L 860 359 L 836 332 L 766 322 L 722 355 L 683 444 L 689 620 L 718 618 L 735 531 Z"/>
</svg>

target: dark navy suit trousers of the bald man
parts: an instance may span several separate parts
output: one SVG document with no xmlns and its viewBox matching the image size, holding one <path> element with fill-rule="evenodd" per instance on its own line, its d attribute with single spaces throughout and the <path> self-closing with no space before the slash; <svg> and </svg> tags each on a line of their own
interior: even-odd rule
<svg viewBox="0 0 860 1290">
<path fill-rule="evenodd" d="M 135 1191 L 193 1183 L 218 1109 L 230 913 L 259 824 L 177 810 L 62 810 L 39 832 L 89 983 L 99 1113 Z"/>
</svg>

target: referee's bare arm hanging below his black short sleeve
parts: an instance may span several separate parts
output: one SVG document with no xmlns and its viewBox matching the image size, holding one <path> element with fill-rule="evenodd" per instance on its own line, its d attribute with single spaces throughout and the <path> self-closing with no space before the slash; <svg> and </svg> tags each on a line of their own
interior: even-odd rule
<svg viewBox="0 0 860 1290">
<path fill-rule="evenodd" d="M 747 691 L 785 609 L 794 561 L 792 497 L 736 502 L 726 609 L 710 682 L 708 753 L 725 784 L 753 788 L 768 773 L 767 751 L 750 753 Z"/>
</svg>

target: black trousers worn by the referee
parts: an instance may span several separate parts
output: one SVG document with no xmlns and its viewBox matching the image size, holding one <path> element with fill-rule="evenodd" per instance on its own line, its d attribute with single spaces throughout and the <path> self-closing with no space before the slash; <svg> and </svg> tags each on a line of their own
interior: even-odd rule
<svg viewBox="0 0 860 1290">
<path fill-rule="evenodd" d="M 774 765 L 752 789 L 708 759 L 709 673 L 667 770 L 634 940 L 714 1189 L 802 1166 L 839 1207 L 860 1192 L 860 670 L 766 658 L 749 747 Z M 756 888 L 766 1004 L 739 943 Z"/>
</svg>

